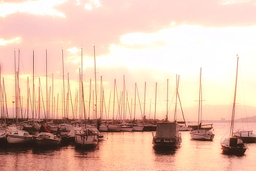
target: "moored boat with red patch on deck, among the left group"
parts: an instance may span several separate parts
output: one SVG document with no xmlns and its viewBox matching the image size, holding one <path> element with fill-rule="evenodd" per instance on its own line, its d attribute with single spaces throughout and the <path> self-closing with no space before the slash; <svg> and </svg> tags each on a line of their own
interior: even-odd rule
<svg viewBox="0 0 256 171">
<path fill-rule="evenodd" d="M 55 147 L 60 145 L 61 138 L 51 133 L 46 126 L 41 126 L 40 132 L 35 135 L 35 144 L 39 147 Z"/>
</svg>

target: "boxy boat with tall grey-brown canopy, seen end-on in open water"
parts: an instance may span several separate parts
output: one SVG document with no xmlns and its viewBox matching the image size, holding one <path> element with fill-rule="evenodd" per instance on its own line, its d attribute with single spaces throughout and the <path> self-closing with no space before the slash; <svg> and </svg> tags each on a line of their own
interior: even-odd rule
<svg viewBox="0 0 256 171">
<path fill-rule="evenodd" d="M 153 135 L 154 147 L 179 147 L 181 133 L 176 122 L 161 122 L 156 124 L 156 135 Z"/>
</svg>

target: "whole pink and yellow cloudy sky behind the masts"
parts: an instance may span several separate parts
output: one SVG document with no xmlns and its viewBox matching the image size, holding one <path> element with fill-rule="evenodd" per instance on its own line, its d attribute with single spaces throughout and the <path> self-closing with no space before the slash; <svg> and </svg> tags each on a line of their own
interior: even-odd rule
<svg viewBox="0 0 256 171">
<path fill-rule="evenodd" d="M 172 118 L 176 75 L 180 75 L 182 106 L 197 105 L 200 68 L 203 104 L 231 105 L 238 54 L 237 103 L 256 107 L 255 5 L 255 1 L 250 0 L 2 0 L 0 64 L 7 105 L 12 107 L 15 100 L 16 58 L 21 97 L 26 106 L 28 80 L 30 89 L 33 87 L 33 53 L 36 99 L 39 79 L 42 91 L 46 91 L 47 71 L 47 89 L 50 91 L 54 87 L 55 104 L 57 94 L 62 98 L 63 93 L 63 56 L 64 91 L 68 92 L 69 80 L 74 104 L 82 69 L 88 108 L 90 79 L 91 91 L 95 89 L 95 54 L 97 97 L 100 98 L 102 78 L 106 102 L 104 115 L 109 115 L 109 118 L 112 118 L 109 101 L 112 106 L 114 80 L 117 103 L 122 95 L 124 75 L 129 100 L 125 102 L 129 106 L 126 118 L 130 118 L 130 114 L 134 118 L 135 99 L 136 118 L 143 114 L 152 118 L 155 106 L 156 117 L 165 118 L 167 79 L 168 113 Z M 135 83 L 138 88 L 136 96 Z M 42 96 L 46 99 L 46 92 Z M 116 115 L 118 109 L 115 110 Z M 196 111 L 185 115 L 197 117 Z"/>
</svg>

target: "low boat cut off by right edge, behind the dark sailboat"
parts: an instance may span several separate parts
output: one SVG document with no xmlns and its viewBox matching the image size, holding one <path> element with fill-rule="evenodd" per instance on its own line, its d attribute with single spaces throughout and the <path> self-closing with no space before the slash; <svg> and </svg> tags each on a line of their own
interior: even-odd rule
<svg viewBox="0 0 256 171">
<path fill-rule="evenodd" d="M 242 139 L 244 143 L 256 143 L 256 134 L 253 130 L 238 130 L 235 137 Z"/>
</svg>

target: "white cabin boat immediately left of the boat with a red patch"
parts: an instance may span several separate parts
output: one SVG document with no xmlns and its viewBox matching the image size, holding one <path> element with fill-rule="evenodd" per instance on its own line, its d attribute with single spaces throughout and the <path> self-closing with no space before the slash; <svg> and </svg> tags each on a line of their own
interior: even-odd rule
<svg viewBox="0 0 256 171">
<path fill-rule="evenodd" d="M 33 135 L 17 127 L 8 127 L 9 134 L 6 135 L 8 144 L 28 144 L 32 143 Z"/>
</svg>

